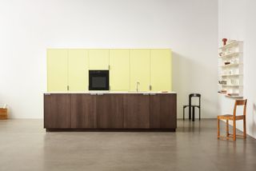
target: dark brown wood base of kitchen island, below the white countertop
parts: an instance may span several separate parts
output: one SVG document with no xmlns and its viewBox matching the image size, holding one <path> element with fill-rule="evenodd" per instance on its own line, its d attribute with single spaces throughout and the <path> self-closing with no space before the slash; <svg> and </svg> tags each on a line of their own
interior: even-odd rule
<svg viewBox="0 0 256 171">
<path fill-rule="evenodd" d="M 176 93 L 46 93 L 44 127 L 175 130 L 176 99 Z"/>
</svg>

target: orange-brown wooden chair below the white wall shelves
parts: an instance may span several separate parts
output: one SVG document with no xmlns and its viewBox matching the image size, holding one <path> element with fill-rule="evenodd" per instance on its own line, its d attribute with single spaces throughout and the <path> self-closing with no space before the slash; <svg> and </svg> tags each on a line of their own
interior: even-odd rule
<svg viewBox="0 0 256 171">
<path fill-rule="evenodd" d="M 243 137 L 246 138 L 246 100 L 236 100 L 234 102 L 234 112 L 233 115 L 231 114 L 226 114 L 226 115 L 218 115 L 218 138 L 223 137 L 220 136 L 219 132 L 219 120 L 226 120 L 226 139 L 230 139 L 230 137 L 233 137 L 233 140 L 236 140 L 236 137 Z M 237 113 L 237 106 L 238 105 L 243 105 L 243 114 L 242 115 L 236 115 Z M 229 121 L 233 121 L 233 134 L 229 133 Z M 243 120 L 243 135 L 237 135 L 236 134 L 236 121 L 237 120 Z"/>
</svg>

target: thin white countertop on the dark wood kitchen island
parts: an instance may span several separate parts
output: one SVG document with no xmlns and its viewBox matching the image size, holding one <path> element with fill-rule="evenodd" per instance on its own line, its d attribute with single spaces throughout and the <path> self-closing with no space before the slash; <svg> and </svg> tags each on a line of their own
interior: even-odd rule
<svg viewBox="0 0 256 171">
<path fill-rule="evenodd" d="M 49 93 L 90 93 L 90 94 L 104 94 L 104 93 L 138 93 L 138 94 L 155 94 L 155 93 L 176 93 L 173 91 L 170 92 L 134 92 L 134 91 L 86 91 L 86 92 L 45 92 L 45 94 Z"/>
</svg>

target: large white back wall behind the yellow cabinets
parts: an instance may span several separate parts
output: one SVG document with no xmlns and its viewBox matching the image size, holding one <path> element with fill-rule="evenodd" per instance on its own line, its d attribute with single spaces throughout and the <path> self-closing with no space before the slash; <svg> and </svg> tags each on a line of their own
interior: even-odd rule
<svg viewBox="0 0 256 171">
<path fill-rule="evenodd" d="M 216 117 L 218 0 L 10 0 L 0 2 L 0 103 L 15 118 L 41 118 L 46 48 L 171 48 L 178 116 L 202 93 Z"/>
</svg>

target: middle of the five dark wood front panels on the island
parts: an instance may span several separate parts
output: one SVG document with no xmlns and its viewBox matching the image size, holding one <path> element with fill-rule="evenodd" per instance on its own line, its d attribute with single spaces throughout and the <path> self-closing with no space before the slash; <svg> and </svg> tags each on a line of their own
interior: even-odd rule
<svg viewBox="0 0 256 171">
<path fill-rule="evenodd" d="M 123 128 L 123 95 L 97 95 L 97 128 Z"/>
</svg>

